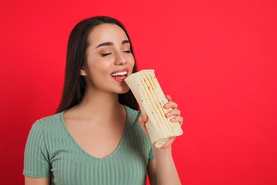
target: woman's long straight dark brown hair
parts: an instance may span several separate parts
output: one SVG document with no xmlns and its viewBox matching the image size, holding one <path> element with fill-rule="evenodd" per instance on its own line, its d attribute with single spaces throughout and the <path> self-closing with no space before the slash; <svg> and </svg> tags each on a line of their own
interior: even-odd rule
<svg viewBox="0 0 277 185">
<path fill-rule="evenodd" d="M 80 70 L 86 62 L 85 53 L 88 46 L 87 37 L 95 26 L 104 23 L 114 23 L 124 30 L 130 41 L 130 51 L 134 55 L 131 40 L 129 34 L 126 31 L 126 28 L 124 28 L 123 24 L 115 18 L 107 16 L 95 16 L 77 23 L 70 33 L 67 44 L 65 83 L 63 87 L 63 94 L 56 113 L 63 112 L 64 110 L 67 110 L 81 102 L 85 93 L 86 84 L 85 78 L 80 75 Z M 136 63 L 132 73 L 136 73 Z M 133 93 L 131 93 L 131 90 L 129 90 L 127 93 L 119 94 L 119 102 L 135 110 L 139 110 L 139 105 L 136 102 Z"/>
</svg>

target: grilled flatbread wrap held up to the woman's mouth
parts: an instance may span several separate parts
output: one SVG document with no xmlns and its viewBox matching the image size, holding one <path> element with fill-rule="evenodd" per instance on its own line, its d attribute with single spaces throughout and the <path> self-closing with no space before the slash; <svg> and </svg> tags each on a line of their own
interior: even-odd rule
<svg viewBox="0 0 277 185">
<path fill-rule="evenodd" d="M 163 107 L 168 100 L 154 70 L 133 73 L 125 79 L 125 82 L 136 97 L 141 112 L 148 116 L 146 129 L 155 147 L 160 148 L 170 137 L 183 134 L 179 122 L 171 122 L 172 117 L 165 117 L 165 113 L 171 109 L 167 110 Z"/>
</svg>

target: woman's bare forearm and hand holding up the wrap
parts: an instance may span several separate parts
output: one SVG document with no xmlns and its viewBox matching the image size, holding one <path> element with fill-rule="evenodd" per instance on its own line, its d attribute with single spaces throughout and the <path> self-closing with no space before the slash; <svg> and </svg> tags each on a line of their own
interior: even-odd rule
<svg viewBox="0 0 277 185">
<path fill-rule="evenodd" d="M 168 99 L 168 103 L 165 104 L 164 107 L 167 109 L 172 108 L 170 115 L 166 115 L 166 117 L 175 116 L 175 120 L 171 119 L 171 121 L 179 122 L 180 125 L 182 125 L 183 117 L 180 116 L 180 110 L 177 109 L 178 105 L 171 101 L 171 97 L 169 95 L 166 95 L 165 97 Z M 146 121 L 147 115 L 143 115 L 139 119 L 142 129 L 148 135 L 145 126 Z M 181 184 L 171 152 L 171 145 L 173 144 L 174 139 L 175 137 L 171 137 L 168 142 L 165 142 L 165 144 L 163 144 L 163 146 L 159 149 L 154 145 L 152 146 L 155 159 L 152 159 L 148 164 L 148 177 L 151 184 Z"/>
</svg>

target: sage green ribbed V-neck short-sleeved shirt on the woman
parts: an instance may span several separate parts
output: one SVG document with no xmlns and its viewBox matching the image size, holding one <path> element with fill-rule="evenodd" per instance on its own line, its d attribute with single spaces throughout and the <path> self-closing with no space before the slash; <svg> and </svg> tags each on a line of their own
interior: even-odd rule
<svg viewBox="0 0 277 185">
<path fill-rule="evenodd" d="M 153 149 L 139 125 L 141 112 L 125 109 L 124 134 L 114 152 L 104 158 L 93 157 L 77 144 L 63 112 L 37 120 L 28 135 L 23 174 L 50 176 L 50 184 L 61 185 L 146 184 Z"/>
</svg>

